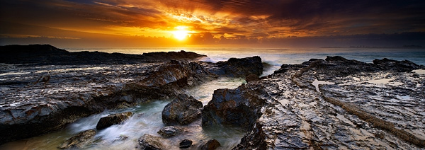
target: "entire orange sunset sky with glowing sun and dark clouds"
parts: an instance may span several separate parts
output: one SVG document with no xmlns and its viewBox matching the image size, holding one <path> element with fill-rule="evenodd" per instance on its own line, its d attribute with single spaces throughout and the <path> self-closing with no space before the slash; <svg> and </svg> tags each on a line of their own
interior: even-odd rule
<svg viewBox="0 0 425 150">
<path fill-rule="evenodd" d="M 424 0 L 0 1 L 0 45 L 425 47 Z"/>
</svg>

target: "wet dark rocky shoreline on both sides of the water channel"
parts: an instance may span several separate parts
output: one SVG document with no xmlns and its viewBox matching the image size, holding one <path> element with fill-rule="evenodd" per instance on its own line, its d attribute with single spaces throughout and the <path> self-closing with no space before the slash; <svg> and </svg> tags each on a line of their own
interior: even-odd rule
<svg viewBox="0 0 425 150">
<path fill-rule="evenodd" d="M 68 54 L 50 45 L 13 47 L 0 50 L 28 51 L 37 47 L 34 50 L 47 51 L 41 54 L 46 57 L 34 55 L 28 61 L 22 58 L 2 62 L 6 64 L 1 65 L 0 72 L 0 115 L 4 116 L 0 119 L 0 144 L 53 132 L 106 109 L 177 98 L 165 112 L 170 120 L 164 121 L 164 109 L 164 123 L 185 125 L 200 119 L 203 127 L 242 127 L 247 133 L 234 149 L 425 146 L 425 74 L 413 72 L 425 67 L 409 61 L 375 59 L 368 64 L 327 57 L 283 64 L 274 74 L 259 78 L 263 71 L 260 57 L 210 63 L 196 61 L 205 55 L 183 51 Z M 62 62 L 50 59 L 51 54 L 59 55 Z M 102 57 L 79 64 L 70 61 L 76 57 L 87 59 L 92 54 Z M 32 57 L 23 55 L 26 59 Z M 203 108 L 191 96 L 179 95 L 186 88 L 219 76 L 246 77 L 248 83 L 234 89 L 217 89 Z M 186 102 L 197 106 L 179 105 Z M 187 116 L 181 118 L 179 112 L 183 110 L 193 110 L 196 115 L 181 113 Z M 92 137 L 96 131 L 89 133 Z M 158 145 L 163 140 L 149 134 L 140 136 L 137 149 L 145 149 L 149 141 Z M 188 143 L 191 141 L 184 142 Z M 211 143 L 216 148 L 217 144 Z"/>
</svg>

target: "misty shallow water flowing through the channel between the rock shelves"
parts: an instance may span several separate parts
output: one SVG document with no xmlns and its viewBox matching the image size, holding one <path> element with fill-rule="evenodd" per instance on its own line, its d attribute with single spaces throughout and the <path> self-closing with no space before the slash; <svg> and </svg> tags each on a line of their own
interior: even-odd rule
<svg viewBox="0 0 425 150">
<path fill-rule="evenodd" d="M 220 78 L 188 89 L 186 93 L 194 96 L 206 105 L 206 103 L 211 100 L 212 93 L 215 89 L 236 88 L 242 83 L 246 82 L 243 79 Z M 171 100 L 152 100 L 150 103 L 137 105 L 132 108 L 106 110 L 100 114 L 81 118 L 59 132 L 23 139 L 17 142 L 9 142 L 0 146 L 0 149 L 57 149 L 57 146 L 69 137 L 87 129 L 96 129 L 97 122 L 101 117 L 128 111 L 134 113 L 132 117 L 123 124 L 113 125 L 98 131 L 93 138 L 92 144 L 84 147 L 84 149 L 135 149 L 137 139 L 143 134 L 160 136 L 157 134 L 157 131 L 164 127 L 161 117 L 162 109 L 170 101 Z M 199 146 L 203 142 L 207 142 L 209 139 L 217 139 L 217 141 L 222 144 L 220 149 L 232 149 L 232 147 L 240 142 L 240 139 L 245 134 L 244 130 L 239 127 L 217 126 L 203 129 L 200 120 L 190 125 L 177 125 L 176 127 L 181 127 L 184 132 L 175 137 L 166 139 L 167 142 L 164 142 L 164 144 L 167 146 L 167 149 L 179 149 L 177 146 L 183 139 L 193 140 L 195 144 L 193 149 L 196 149 L 196 146 Z M 125 140 L 120 139 L 120 137 L 124 136 L 128 138 Z"/>
</svg>

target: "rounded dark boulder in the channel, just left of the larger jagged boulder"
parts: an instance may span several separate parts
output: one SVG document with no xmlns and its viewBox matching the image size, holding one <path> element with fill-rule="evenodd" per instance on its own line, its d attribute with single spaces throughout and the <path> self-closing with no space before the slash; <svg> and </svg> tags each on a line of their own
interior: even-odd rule
<svg viewBox="0 0 425 150">
<path fill-rule="evenodd" d="M 192 96 L 179 94 L 171 103 L 162 110 L 162 122 L 166 125 L 188 125 L 200 117 L 202 102 Z"/>
</svg>

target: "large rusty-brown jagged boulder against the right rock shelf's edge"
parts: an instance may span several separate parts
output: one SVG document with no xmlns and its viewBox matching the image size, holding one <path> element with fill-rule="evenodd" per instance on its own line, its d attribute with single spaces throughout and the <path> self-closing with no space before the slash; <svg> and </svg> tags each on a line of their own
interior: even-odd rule
<svg viewBox="0 0 425 150">
<path fill-rule="evenodd" d="M 218 89 L 202 110 L 202 125 L 239 125 L 251 129 L 261 116 L 265 100 L 259 85 L 245 84 L 236 89 Z"/>
</svg>

